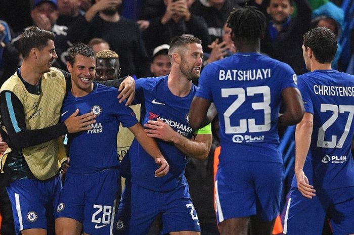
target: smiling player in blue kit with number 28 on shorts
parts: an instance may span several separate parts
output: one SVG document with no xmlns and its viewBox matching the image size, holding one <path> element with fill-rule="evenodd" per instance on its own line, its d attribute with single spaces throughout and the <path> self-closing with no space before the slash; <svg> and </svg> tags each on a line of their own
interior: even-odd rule
<svg viewBox="0 0 354 235">
<path fill-rule="evenodd" d="M 91 129 L 68 135 L 70 168 L 56 211 L 56 234 L 109 234 L 113 226 L 115 199 L 120 191 L 116 138 L 119 123 L 134 133 L 149 153 L 155 170 L 164 176 L 168 164 L 153 138 L 148 137 L 134 112 L 115 99 L 118 90 L 94 83 L 95 52 L 85 44 L 74 44 L 68 53 L 72 88 L 64 101 L 62 121 L 72 113 L 93 112 Z M 167 153 L 166 153 L 167 154 Z M 156 164 L 160 165 L 156 170 Z"/>
</svg>

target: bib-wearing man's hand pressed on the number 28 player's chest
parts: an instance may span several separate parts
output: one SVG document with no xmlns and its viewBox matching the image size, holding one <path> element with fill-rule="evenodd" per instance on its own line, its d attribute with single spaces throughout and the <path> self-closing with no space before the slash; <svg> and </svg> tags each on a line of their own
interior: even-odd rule
<svg viewBox="0 0 354 235">
<path fill-rule="evenodd" d="M 78 113 L 79 110 L 76 109 L 76 111 L 64 121 L 68 133 L 89 130 L 91 129 L 91 124 L 96 122 L 96 115 L 94 113 L 85 113 L 79 116 Z"/>
</svg>

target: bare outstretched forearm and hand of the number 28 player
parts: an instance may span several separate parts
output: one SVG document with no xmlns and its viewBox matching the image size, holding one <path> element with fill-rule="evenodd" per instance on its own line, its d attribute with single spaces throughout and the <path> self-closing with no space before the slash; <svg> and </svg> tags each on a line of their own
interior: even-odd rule
<svg viewBox="0 0 354 235">
<path fill-rule="evenodd" d="M 144 128 L 140 123 L 135 124 L 128 128 L 137 138 L 138 142 L 142 145 L 144 150 L 155 159 L 155 163 L 160 167 L 155 171 L 155 177 L 161 177 L 168 173 L 169 165 L 163 157 L 156 141 L 147 136 Z"/>
</svg>

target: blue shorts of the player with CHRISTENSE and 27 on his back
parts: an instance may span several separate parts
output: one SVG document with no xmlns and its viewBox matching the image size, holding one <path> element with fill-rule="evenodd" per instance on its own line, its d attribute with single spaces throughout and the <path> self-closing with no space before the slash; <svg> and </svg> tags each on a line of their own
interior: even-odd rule
<svg viewBox="0 0 354 235">
<path fill-rule="evenodd" d="M 284 234 L 321 235 L 326 215 L 331 221 L 334 235 L 353 234 L 354 187 L 316 189 L 316 196 L 312 199 L 303 197 L 297 187 L 292 187 L 285 214 Z"/>
</svg>

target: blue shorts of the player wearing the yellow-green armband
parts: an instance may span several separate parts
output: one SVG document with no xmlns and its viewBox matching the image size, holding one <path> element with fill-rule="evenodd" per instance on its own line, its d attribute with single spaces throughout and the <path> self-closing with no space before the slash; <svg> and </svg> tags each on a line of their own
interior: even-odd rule
<svg viewBox="0 0 354 235">
<path fill-rule="evenodd" d="M 124 191 L 129 193 L 128 191 Z M 134 235 L 146 235 L 154 219 L 158 214 L 162 214 L 162 233 L 171 231 L 200 231 L 197 212 L 194 209 L 189 187 L 186 184 L 179 185 L 169 192 L 157 192 L 145 189 L 131 183 L 131 197 L 125 199 L 119 205 L 120 209 L 130 208 L 129 233 Z M 130 204 L 127 205 L 127 204 Z M 120 216 L 128 213 L 120 211 Z M 118 228 L 121 224 L 118 220 Z M 124 231 L 124 230 L 123 230 Z M 127 234 L 127 233 L 120 233 Z"/>
</svg>

